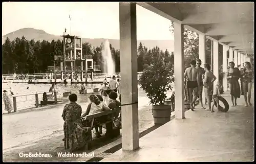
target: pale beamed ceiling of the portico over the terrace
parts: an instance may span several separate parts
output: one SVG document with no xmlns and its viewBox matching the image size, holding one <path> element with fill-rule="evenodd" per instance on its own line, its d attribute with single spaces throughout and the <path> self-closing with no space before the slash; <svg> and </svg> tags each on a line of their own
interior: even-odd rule
<svg viewBox="0 0 256 164">
<path fill-rule="evenodd" d="M 253 53 L 253 2 L 137 3 L 242 53 Z"/>
</svg>

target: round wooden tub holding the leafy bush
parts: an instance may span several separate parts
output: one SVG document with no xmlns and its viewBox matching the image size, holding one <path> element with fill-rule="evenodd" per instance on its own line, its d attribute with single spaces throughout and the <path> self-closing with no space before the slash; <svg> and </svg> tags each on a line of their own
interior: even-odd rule
<svg viewBox="0 0 256 164">
<path fill-rule="evenodd" d="M 157 105 L 152 106 L 152 114 L 155 125 L 163 125 L 170 121 L 170 114 L 172 113 L 171 105 Z"/>
</svg>

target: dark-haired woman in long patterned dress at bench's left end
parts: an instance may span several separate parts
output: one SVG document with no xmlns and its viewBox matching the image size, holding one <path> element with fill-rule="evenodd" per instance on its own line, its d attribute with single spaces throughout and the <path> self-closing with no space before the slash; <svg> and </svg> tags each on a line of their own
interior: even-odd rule
<svg viewBox="0 0 256 164">
<path fill-rule="evenodd" d="M 83 148 L 87 144 L 90 136 L 86 135 L 89 129 L 81 126 L 80 116 L 82 108 L 76 103 L 77 95 L 74 93 L 71 94 L 69 100 L 70 103 L 65 105 L 61 115 L 65 121 L 63 126 L 65 137 L 63 141 L 65 149 L 74 151 Z"/>
</svg>

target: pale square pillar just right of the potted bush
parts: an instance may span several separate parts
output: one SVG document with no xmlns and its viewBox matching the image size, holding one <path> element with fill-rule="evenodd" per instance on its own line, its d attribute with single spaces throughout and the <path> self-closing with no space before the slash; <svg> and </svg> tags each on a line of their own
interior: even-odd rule
<svg viewBox="0 0 256 164">
<path fill-rule="evenodd" d="M 184 106 L 184 26 L 174 22 L 175 118 L 185 118 Z"/>
</svg>

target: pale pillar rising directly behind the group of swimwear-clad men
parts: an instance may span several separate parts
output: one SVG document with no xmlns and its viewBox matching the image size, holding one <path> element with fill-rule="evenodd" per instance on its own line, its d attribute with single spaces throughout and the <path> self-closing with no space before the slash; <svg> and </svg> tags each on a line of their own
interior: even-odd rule
<svg viewBox="0 0 256 164">
<path fill-rule="evenodd" d="M 199 59 L 202 61 L 202 65 L 204 66 L 206 61 L 205 56 L 205 35 L 199 34 Z M 203 104 L 205 104 L 205 94 L 204 91 L 202 92 Z"/>
</svg>

